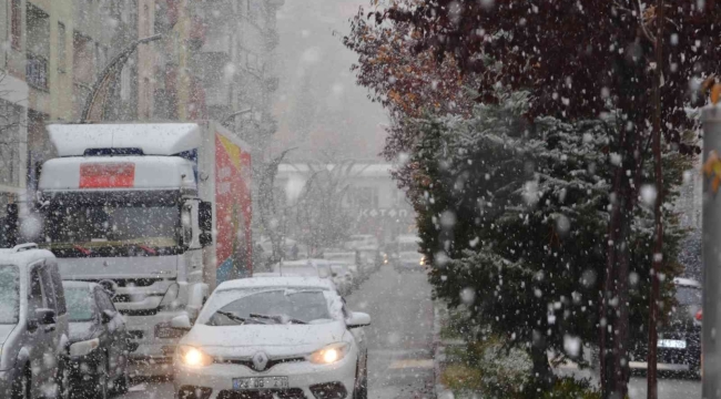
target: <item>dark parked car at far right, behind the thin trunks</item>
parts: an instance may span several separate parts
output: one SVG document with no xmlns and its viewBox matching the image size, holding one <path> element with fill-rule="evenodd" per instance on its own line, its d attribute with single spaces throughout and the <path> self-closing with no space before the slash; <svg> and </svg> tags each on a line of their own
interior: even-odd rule
<svg viewBox="0 0 721 399">
<path fill-rule="evenodd" d="M 669 314 L 669 323 L 659 329 L 658 369 L 661 371 L 699 372 L 701 368 L 701 284 L 688 278 L 676 278 L 677 306 Z M 648 345 L 639 340 L 631 361 L 632 368 L 646 368 Z"/>
</svg>

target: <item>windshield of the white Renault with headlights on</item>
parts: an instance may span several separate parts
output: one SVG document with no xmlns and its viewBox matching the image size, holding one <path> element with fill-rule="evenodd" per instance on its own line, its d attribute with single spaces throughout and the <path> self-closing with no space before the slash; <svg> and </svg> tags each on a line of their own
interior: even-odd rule
<svg viewBox="0 0 721 399">
<path fill-rule="evenodd" d="M 328 301 L 322 290 L 273 289 L 260 293 L 225 293 L 224 299 L 233 295 L 237 299 L 215 310 L 209 326 L 233 326 L 238 324 L 319 323 L 332 320 Z"/>
</svg>

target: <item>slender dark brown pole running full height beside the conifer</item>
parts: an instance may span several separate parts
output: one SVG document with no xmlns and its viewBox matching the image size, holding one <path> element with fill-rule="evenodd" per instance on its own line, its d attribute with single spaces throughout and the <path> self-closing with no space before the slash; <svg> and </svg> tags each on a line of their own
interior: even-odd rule
<svg viewBox="0 0 721 399">
<path fill-rule="evenodd" d="M 663 171 L 661 167 L 661 78 L 663 74 L 663 0 L 656 4 L 656 70 L 653 71 L 653 172 L 656 175 L 656 204 L 653 205 L 653 225 L 656 226 L 656 243 L 651 260 L 651 295 L 649 298 L 649 356 L 648 365 L 648 399 L 658 398 L 657 366 L 658 366 L 658 323 L 659 323 L 659 273 L 663 263 Z"/>
</svg>

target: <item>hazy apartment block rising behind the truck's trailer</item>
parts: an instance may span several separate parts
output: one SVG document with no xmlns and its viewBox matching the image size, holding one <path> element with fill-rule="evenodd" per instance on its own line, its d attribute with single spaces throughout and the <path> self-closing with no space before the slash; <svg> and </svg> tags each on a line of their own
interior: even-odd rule
<svg viewBox="0 0 721 399">
<path fill-rule="evenodd" d="M 140 35 L 163 37 L 158 51 L 139 53 L 141 119 L 221 121 L 262 154 L 275 132 L 275 16 L 283 1 L 139 1 Z"/>
</svg>

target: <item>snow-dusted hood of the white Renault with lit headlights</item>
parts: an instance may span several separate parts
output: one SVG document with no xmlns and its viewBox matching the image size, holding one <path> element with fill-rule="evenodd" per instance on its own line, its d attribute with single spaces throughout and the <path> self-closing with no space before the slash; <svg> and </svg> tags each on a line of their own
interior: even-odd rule
<svg viewBox="0 0 721 399">
<path fill-rule="evenodd" d="M 309 354 L 344 339 L 343 321 L 315 325 L 196 325 L 181 345 L 203 348 L 211 356 L 250 357 L 258 350 L 271 357 Z"/>
</svg>

